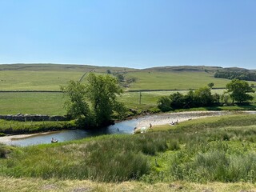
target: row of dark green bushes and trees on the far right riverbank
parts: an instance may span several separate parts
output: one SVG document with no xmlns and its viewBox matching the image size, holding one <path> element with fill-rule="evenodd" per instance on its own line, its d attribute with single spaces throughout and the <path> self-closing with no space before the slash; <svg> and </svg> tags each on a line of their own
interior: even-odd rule
<svg viewBox="0 0 256 192">
<path fill-rule="evenodd" d="M 223 103 L 227 104 L 229 98 L 232 99 L 233 104 L 234 102 L 243 103 L 253 100 L 250 93 L 254 93 L 254 89 L 244 80 L 233 79 L 226 84 L 226 91 L 223 94 L 211 94 L 213 86 L 214 83 L 209 83 L 208 86 L 190 90 L 187 94 L 177 92 L 169 96 L 162 96 L 158 99 L 158 108 L 165 112 L 200 106 L 218 106 Z"/>
</svg>

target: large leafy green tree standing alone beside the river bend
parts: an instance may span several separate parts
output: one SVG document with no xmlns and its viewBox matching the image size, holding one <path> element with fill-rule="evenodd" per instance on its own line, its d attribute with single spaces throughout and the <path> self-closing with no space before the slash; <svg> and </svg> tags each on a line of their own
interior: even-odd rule
<svg viewBox="0 0 256 192">
<path fill-rule="evenodd" d="M 113 122 L 114 113 L 125 111 L 117 95 L 122 94 L 118 80 L 110 75 L 89 74 L 86 83 L 70 81 L 62 90 L 67 94 L 67 114 L 78 118 L 80 125 L 105 126 Z"/>
</svg>

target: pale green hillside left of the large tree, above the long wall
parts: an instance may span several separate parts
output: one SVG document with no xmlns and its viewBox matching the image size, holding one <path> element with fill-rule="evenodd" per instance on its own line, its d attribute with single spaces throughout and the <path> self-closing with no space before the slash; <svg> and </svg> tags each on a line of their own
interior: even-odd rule
<svg viewBox="0 0 256 192">
<path fill-rule="evenodd" d="M 130 71 L 126 67 L 99 67 L 78 65 L 0 65 L 0 90 L 60 90 L 70 80 L 79 80 L 86 72 L 106 74 Z"/>
</svg>

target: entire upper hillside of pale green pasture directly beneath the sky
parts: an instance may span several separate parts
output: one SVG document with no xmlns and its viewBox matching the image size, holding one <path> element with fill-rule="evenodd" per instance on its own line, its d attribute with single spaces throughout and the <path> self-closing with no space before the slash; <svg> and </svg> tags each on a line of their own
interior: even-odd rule
<svg viewBox="0 0 256 192">
<path fill-rule="evenodd" d="M 222 88 L 230 80 L 214 78 L 219 66 L 163 66 L 148 69 L 61 64 L 0 65 L 0 90 L 59 90 L 70 80 L 78 81 L 90 71 L 123 74 L 126 90 L 188 90 L 214 82 Z M 130 81 L 133 79 L 133 81 Z M 129 82 L 130 81 L 130 82 Z M 253 83 L 253 82 L 251 82 Z"/>
</svg>

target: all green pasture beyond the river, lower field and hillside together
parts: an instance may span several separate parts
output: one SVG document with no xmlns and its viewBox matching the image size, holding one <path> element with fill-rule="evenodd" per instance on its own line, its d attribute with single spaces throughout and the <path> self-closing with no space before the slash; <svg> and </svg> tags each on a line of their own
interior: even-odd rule
<svg viewBox="0 0 256 192">
<path fill-rule="evenodd" d="M 175 67 L 174 67 L 175 68 Z M 184 67 L 183 67 L 184 68 Z M 53 64 L 17 64 L 0 65 L 0 90 L 60 90 L 70 80 L 79 80 L 86 72 L 106 74 L 122 73 L 126 78 L 135 78 L 125 90 L 188 90 L 206 86 L 214 82 L 214 87 L 225 87 L 227 79 L 214 78 L 211 67 L 176 67 L 176 70 L 135 70 L 122 67 L 99 67 L 82 65 L 53 65 Z M 202 68 L 202 69 L 201 69 Z M 163 69 L 163 68 L 161 68 Z M 182 69 L 182 71 L 177 71 Z M 196 69 L 196 70 L 195 70 Z M 198 70 L 200 69 L 200 70 Z M 205 69 L 205 70 L 204 70 Z M 214 67 L 212 69 L 216 70 Z M 210 71 L 210 72 L 209 72 Z M 213 90 L 221 94 L 223 90 Z M 155 110 L 156 102 L 162 95 L 169 95 L 173 91 L 142 92 L 140 94 L 124 93 L 120 101 L 128 108 L 135 110 Z M 186 93 L 184 91 L 183 93 Z M 0 114 L 50 114 L 63 115 L 61 93 L 0 93 Z M 254 98 L 254 102 L 256 98 Z"/>
</svg>

